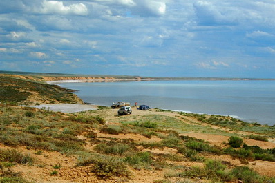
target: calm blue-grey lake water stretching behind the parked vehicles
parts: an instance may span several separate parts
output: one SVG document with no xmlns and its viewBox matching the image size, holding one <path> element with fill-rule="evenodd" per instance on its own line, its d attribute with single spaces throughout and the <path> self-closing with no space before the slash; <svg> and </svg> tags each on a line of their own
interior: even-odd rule
<svg viewBox="0 0 275 183">
<path fill-rule="evenodd" d="M 275 124 L 275 81 L 124 81 L 59 83 L 79 90 L 91 104 L 124 101 L 151 108 L 231 115 L 246 122 Z"/>
</svg>

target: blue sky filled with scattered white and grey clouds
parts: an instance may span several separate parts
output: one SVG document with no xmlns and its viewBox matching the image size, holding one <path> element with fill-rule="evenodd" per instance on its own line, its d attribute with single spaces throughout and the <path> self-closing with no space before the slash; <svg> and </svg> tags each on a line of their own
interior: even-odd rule
<svg viewBox="0 0 275 183">
<path fill-rule="evenodd" d="M 275 78 L 274 0 L 1 0 L 0 70 Z"/>
</svg>

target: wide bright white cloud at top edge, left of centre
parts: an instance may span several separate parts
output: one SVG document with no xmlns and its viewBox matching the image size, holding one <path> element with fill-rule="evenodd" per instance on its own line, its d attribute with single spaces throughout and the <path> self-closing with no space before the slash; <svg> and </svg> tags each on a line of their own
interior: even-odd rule
<svg viewBox="0 0 275 183">
<path fill-rule="evenodd" d="M 44 14 L 73 14 L 73 15 L 88 15 L 88 8 L 84 3 L 72 4 L 64 6 L 62 1 L 43 1 L 41 12 Z"/>
</svg>

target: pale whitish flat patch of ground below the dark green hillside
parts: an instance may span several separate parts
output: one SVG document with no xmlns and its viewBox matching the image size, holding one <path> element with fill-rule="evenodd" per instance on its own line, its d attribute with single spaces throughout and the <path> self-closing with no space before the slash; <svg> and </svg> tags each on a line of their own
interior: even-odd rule
<svg viewBox="0 0 275 183">
<path fill-rule="evenodd" d="M 80 111 L 97 109 L 95 105 L 82 105 L 82 104 L 42 104 L 42 105 L 30 106 L 30 107 L 45 108 L 46 110 L 62 112 L 62 113 L 77 113 Z"/>
</svg>

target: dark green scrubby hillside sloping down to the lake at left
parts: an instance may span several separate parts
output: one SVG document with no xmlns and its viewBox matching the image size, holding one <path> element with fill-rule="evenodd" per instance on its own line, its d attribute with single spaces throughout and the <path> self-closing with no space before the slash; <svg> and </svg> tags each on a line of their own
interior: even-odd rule
<svg viewBox="0 0 275 183">
<path fill-rule="evenodd" d="M 0 102 L 28 104 L 27 99 L 34 94 L 37 94 L 38 104 L 79 102 L 79 99 L 71 93 L 73 90 L 61 88 L 57 85 L 6 76 L 0 76 L 0 85 Z"/>
</svg>

